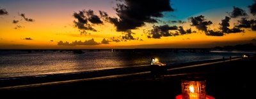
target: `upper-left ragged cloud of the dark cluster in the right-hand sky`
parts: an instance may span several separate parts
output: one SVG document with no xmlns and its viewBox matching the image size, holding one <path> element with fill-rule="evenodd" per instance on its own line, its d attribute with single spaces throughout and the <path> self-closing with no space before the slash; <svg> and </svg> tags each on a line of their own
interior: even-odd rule
<svg viewBox="0 0 256 99">
<path fill-rule="evenodd" d="M 195 26 L 196 29 L 203 30 L 204 32 L 207 32 L 207 26 L 212 24 L 211 21 L 205 21 L 206 19 L 202 15 L 188 19 L 192 23 L 191 26 Z"/>
</svg>

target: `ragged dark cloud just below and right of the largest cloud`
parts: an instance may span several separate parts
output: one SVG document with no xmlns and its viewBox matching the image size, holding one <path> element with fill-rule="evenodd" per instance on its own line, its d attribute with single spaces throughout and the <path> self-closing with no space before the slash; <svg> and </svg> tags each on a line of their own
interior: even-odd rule
<svg viewBox="0 0 256 99">
<path fill-rule="evenodd" d="M 172 32 L 169 32 L 169 30 L 178 30 L 177 26 L 169 26 L 169 25 L 160 25 L 160 26 L 153 26 L 153 29 L 150 30 L 150 35 L 148 38 L 154 38 L 154 39 L 160 39 L 162 36 L 173 36 Z"/>
</svg>

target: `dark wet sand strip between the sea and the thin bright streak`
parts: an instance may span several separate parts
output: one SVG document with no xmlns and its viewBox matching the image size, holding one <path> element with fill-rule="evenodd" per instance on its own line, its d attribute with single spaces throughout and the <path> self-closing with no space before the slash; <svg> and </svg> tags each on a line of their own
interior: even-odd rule
<svg viewBox="0 0 256 99">
<path fill-rule="evenodd" d="M 234 58 L 239 58 L 239 57 L 240 56 L 237 56 Z M 230 60 L 230 59 L 225 58 L 224 60 Z M 220 59 L 214 59 L 214 60 L 174 63 L 171 65 L 167 64 L 166 69 L 185 67 L 187 65 L 196 65 L 200 63 L 220 62 L 220 61 L 223 61 L 223 59 L 220 58 Z M 113 75 L 131 74 L 131 73 L 148 72 L 148 71 L 150 71 L 150 65 L 120 67 L 120 68 L 104 69 L 104 70 L 90 70 L 90 71 L 82 71 L 82 72 L 68 72 L 63 74 L 44 74 L 44 75 L 38 75 L 38 76 L 20 76 L 20 77 L 0 77 L 0 87 L 18 86 L 22 84 L 35 84 L 35 83 L 42 83 L 42 82 L 67 81 L 67 80 L 73 80 L 73 79 L 85 79 L 85 78 L 92 78 L 92 77 L 113 76 Z"/>
</svg>

